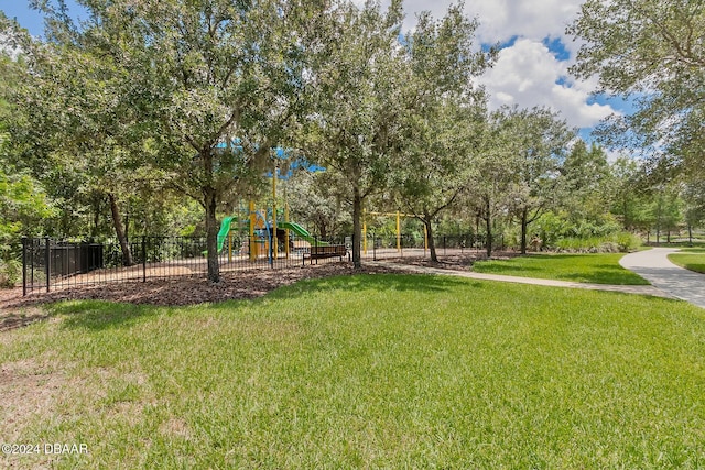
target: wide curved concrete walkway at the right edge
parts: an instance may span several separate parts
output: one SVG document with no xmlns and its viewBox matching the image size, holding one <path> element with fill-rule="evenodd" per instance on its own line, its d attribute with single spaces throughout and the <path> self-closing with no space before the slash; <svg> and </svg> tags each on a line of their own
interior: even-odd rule
<svg viewBox="0 0 705 470">
<path fill-rule="evenodd" d="M 705 274 L 676 266 L 669 261 L 673 248 L 653 248 L 622 256 L 619 264 L 682 300 L 705 308 Z"/>
</svg>

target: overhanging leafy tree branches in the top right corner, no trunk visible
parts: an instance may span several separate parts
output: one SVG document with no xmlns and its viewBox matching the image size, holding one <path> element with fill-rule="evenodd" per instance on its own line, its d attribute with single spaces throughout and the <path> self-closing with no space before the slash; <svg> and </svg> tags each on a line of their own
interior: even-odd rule
<svg viewBox="0 0 705 470">
<path fill-rule="evenodd" d="M 587 0 L 567 33 L 585 41 L 572 72 L 631 100 L 600 136 L 614 146 L 675 156 L 695 178 L 705 168 L 705 9 L 701 0 Z"/>
</svg>

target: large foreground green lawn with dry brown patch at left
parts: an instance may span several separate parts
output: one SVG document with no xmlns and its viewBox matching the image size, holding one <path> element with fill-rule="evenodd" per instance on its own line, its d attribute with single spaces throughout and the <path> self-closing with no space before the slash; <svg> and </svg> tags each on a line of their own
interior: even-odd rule
<svg viewBox="0 0 705 470">
<path fill-rule="evenodd" d="M 52 313 L 0 335 L 2 440 L 87 445 L 52 468 L 705 466 L 705 310 L 684 302 L 360 275 Z"/>
</svg>

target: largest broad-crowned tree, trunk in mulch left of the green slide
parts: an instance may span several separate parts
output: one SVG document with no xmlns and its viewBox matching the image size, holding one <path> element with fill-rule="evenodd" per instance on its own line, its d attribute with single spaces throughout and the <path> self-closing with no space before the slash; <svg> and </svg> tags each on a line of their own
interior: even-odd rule
<svg viewBox="0 0 705 470">
<path fill-rule="evenodd" d="M 325 2 L 319 2 L 321 4 Z M 219 281 L 216 210 L 271 162 L 305 96 L 305 50 L 318 2 L 84 0 L 75 28 L 62 10 L 52 35 L 112 70 L 106 129 L 205 210 L 208 278 Z M 94 86 L 102 81 L 94 78 Z M 94 97 L 94 88 L 88 95 Z M 74 92 L 72 91 L 72 96 Z M 101 146 L 102 151 L 107 151 Z"/>
</svg>

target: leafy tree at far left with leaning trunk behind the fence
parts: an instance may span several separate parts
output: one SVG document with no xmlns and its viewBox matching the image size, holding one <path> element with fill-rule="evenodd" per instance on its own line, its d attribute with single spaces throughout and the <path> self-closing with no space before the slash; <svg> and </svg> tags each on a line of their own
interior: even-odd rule
<svg viewBox="0 0 705 470">
<path fill-rule="evenodd" d="M 23 117 L 13 132 L 15 160 L 43 181 L 58 177 L 53 192 L 73 186 L 65 199 L 95 208 L 91 234 L 97 234 L 100 203 L 107 200 L 122 261 L 129 266 L 133 258 L 120 200 L 151 178 L 139 172 L 143 153 L 129 134 L 131 122 L 123 119 L 130 116 L 121 100 L 128 77 L 88 32 L 73 29 L 62 10 L 48 13 L 54 21 L 46 33 L 53 40 L 23 41 L 26 69 L 12 94 Z M 63 229 L 62 234 L 70 233 L 68 227 Z"/>
</svg>

